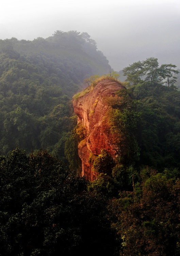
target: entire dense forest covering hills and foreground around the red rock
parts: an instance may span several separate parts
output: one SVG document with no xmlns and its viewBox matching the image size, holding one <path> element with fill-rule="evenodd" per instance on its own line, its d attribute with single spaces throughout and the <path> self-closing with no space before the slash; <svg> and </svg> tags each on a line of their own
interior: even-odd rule
<svg viewBox="0 0 180 256">
<path fill-rule="evenodd" d="M 125 154 L 112 159 L 102 149 L 91 159 L 96 179 L 79 175 L 83 127 L 76 126 L 71 97 L 84 79 L 95 84 L 91 75 L 109 70 L 85 32 L 0 40 L 1 254 L 180 254 L 175 65 L 148 58 L 124 68 L 128 89 L 117 92 L 123 100 L 109 115 L 111 132 L 125 138 Z M 115 72 L 109 76 L 117 80 Z M 67 157 L 70 169 L 39 148 Z"/>
</svg>

